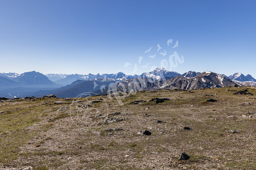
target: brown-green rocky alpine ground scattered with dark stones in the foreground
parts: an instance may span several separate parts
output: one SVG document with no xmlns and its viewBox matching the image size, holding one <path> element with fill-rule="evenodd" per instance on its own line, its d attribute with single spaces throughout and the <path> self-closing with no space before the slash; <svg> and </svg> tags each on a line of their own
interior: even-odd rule
<svg viewBox="0 0 256 170">
<path fill-rule="evenodd" d="M 256 169 L 255 95 L 247 86 L 3 99 L 0 170 Z"/>
</svg>

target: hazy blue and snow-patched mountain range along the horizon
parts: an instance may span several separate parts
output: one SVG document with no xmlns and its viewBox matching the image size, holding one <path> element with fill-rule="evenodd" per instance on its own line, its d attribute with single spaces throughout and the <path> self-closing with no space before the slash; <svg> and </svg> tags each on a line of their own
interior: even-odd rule
<svg viewBox="0 0 256 170">
<path fill-rule="evenodd" d="M 141 81 L 143 79 L 143 81 Z M 136 83 L 137 82 L 137 83 Z M 135 83 L 135 84 L 134 84 Z M 134 85 L 133 85 L 134 84 Z M 230 76 L 213 72 L 180 74 L 156 68 L 141 75 L 116 74 L 47 74 L 39 72 L 0 73 L 0 97 L 26 97 L 54 94 L 76 97 L 83 92 L 104 94 L 108 90 L 197 89 L 230 85 L 256 86 L 256 79 L 235 73 Z"/>
</svg>

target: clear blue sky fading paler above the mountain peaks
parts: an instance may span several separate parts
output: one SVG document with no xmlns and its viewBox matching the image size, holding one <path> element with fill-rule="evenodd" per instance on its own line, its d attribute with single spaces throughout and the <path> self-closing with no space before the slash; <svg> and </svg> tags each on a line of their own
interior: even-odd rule
<svg viewBox="0 0 256 170">
<path fill-rule="evenodd" d="M 141 74 L 164 64 L 256 78 L 255 9 L 254 0 L 1 0 L 0 72 Z M 175 51 L 184 62 L 170 67 Z"/>
</svg>

